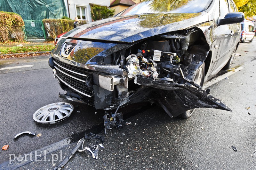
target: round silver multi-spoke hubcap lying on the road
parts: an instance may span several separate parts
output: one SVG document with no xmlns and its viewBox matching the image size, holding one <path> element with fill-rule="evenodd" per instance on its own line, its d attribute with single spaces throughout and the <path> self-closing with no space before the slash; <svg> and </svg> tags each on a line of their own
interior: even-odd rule
<svg viewBox="0 0 256 170">
<path fill-rule="evenodd" d="M 70 103 L 52 103 L 36 110 L 33 119 L 38 123 L 55 124 L 69 117 L 73 110 Z"/>
</svg>

